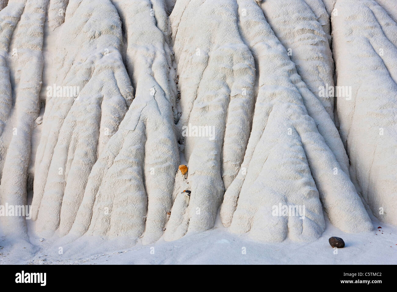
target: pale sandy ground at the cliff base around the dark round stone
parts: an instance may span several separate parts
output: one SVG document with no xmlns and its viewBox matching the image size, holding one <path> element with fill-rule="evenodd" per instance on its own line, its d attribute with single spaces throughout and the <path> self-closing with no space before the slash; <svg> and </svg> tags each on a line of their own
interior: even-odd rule
<svg viewBox="0 0 397 292">
<path fill-rule="evenodd" d="M 316 242 L 299 243 L 287 239 L 282 243 L 265 244 L 253 242 L 245 235 L 230 234 L 218 218 L 211 230 L 173 242 L 161 238 L 149 246 L 138 242 L 127 249 L 112 247 L 107 242 L 108 246 L 99 248 L 98 239 L 92 237 L 91 242 L 77 248 L 78 253 L 65 248 L 60 255 L 56 244 L 39 241 L 33 232 L 35 223 L 30 221 L 33 248 L 23 244 L 13 246 L 0 236 L 0 264 L 397 264 L 397 226 L 376 219 L 372 222 L 374 228 L 381 226 L 382 229 L 348 234 L 327 222 L 324 234 Z M 328 243 L 331 236 L 339 236 L 346 243 L 337 254 Z"/>
</svg>

